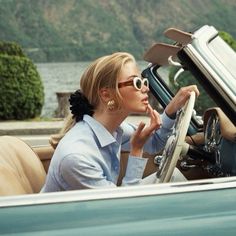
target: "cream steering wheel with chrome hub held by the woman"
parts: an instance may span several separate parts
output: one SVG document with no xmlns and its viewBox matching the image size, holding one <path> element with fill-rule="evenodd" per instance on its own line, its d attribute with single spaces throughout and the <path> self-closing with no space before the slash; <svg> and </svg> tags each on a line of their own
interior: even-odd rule
<svg viewBox="0 0 236 236">
<path fill-rule="evenodd" d="M 173 132 L 169 136 L 157 172 L 159 183 L 169 182 L 174 172 L 179 157 L 188 151 L 188 144 L 185 143 L 188 127 L 191 121 L 195 103 L 195 93 L 186 101 L 184 107 L 178 111 Z"/>
</svg>

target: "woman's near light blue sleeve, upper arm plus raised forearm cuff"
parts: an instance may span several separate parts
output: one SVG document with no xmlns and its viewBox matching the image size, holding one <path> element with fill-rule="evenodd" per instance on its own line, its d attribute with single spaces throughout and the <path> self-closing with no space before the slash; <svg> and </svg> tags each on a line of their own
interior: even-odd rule
<svg viewBox="0 0 236 236">
<path fill-rule="evenodd" d="M 138 185 L 142 182 L 142 176 L 147 159 L 129 156 L 126 174 L 122 180 L 122 186 Z M 65 181 L 66 190 L 93 189 L 117 187 L 115 183 L 107 180 L 103 170 L 86 158 L 67 156 L 60 164 L 60 174 Z"/>
</svg>

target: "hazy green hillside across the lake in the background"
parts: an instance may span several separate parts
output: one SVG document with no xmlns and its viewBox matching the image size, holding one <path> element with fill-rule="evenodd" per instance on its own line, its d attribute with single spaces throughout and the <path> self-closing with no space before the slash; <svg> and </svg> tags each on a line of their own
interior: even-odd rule
<svg viewBox="0 0 236 236">
<path fill-rule="evenodd" d="M 141 58 L 168 27 L 203 24 L 236 38 L 235 0 L 0 0 L 0 40 L 35 61 L 91 60 L 114 51 Z"/>
</svg>

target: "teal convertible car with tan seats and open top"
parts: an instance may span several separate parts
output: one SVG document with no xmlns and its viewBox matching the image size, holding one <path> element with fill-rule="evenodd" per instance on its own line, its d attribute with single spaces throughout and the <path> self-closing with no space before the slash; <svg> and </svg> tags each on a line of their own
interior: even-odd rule
<svg viewBox="0 0 236 236">
<path fill-rule="evenodd" d="M 178 112 L 163 152 L 145 154 L 144 176 L 156 183 L 39 194 L 53 148 L 1 136 L 1 235 L 236 234 L 236 53 L 213 26 L 164 34 L 173 43 L 152 45 L 142 71 L 156 106 L 181 84 L 198 84 L 201 95 Z M 120 176 L 126 161 L 122 153 Z M 176 167 L 187 181 L 170 181 Z"/>
</svg>

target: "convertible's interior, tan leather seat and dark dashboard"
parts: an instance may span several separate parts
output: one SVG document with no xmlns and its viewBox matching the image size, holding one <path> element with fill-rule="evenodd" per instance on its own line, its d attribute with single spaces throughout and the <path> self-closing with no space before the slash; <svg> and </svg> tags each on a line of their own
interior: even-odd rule
<svg viewBox="0 0 236 236">
<path fill-rule="evenodd" d="M 212 108 L 204 114 L 204 129 L 194 135 L 187 135 L 188 151 L 179 160 L 177 168 L 188 180 L 232 176 L 236 174 L 234 158 L 235 126 L 219 108 Z M 0 137 L 0 195 L 20 195 L 39 193 L 53 155 L 54 148 L 46 146 L 31 147 L 18 137 Z M 219 153 L 226 153 L 229 159 Z M 148 163 L 144 172 L 146 177 L 158 172 L 159 155 L 144 154 Z M 117 185 L 124 176 L 128 152 L 121 154 L 121 170 Z"/>
</svg>

